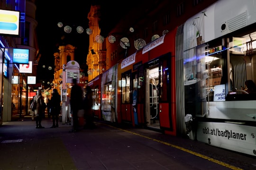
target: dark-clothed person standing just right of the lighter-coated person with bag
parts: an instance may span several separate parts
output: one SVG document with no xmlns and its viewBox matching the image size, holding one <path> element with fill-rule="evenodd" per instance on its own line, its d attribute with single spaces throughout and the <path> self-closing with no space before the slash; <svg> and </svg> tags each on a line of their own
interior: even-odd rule
<svg viewBox="0 0 256 170">
<path fill-rule="evenodd" d="M 50 101 L 50 106 L 51 106 L 50 110 L 51 110 L 51 115 L 53 119 L 53 126 L 50 128 L 59 127 L 58 120 L 59 120 L 59 114 L 61 110 L 60 103 L 61 103 L 61 96 L 58 93 L 57 89 L 53 89 L 52 98 Z"/>
</svg>

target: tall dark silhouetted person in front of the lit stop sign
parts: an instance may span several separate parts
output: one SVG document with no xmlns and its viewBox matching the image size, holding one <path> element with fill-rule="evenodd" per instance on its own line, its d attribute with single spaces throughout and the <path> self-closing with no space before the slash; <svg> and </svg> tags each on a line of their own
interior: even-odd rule
<svg viewBox="0 0 256 170">
<path fill-rule="evenodd" d="M 79 127 L 79 121 L 77 112 L 82 109 L 83 93 L 82 88 L 77 85 L 76 78 L 72 79 L 72 88 L 70 92 L 70 107 L 73 118 L 73 128 L 70 132 L 77 132 Z"/>
</svg>

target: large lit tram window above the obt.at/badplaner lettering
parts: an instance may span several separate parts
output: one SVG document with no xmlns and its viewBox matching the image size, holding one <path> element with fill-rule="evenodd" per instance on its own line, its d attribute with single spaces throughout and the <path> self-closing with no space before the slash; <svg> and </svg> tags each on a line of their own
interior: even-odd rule
<svg viewBox="0 0 256 170">
<path fill-rule="evenodd" d="M 205 72 L 208 74 L 206 79 L 206 86 L 209 92 L 208 101 L 214 101 L 215 86 L 220 84 L 226 84 L 226 100 L 254 100 L 256 98 L 246 96 L 242 89 L 246 80 L 256 80 L 253 76 L 253 70 L 255 70 L 253 59 L 255 55 L 250 53 L 251 51 L 248 48 L 250 46 L 247 46 L 252 34 L 227 38 L 224 41 L 229 42 L 226 50 L 223 50 L 220 41 L 219 44 L 214 45 L 211 42 L 207 43 L 205 50 L 207 51 L 205 53 Z M 228 61 L 229 65 L 225 64 Z M 203 74 L 201 77 L 203 77 Z M 230 98 L 230 95 L 227 96 L 228 94 L 236 94 L 236 96 L 232 95 Z"/>
</svg>

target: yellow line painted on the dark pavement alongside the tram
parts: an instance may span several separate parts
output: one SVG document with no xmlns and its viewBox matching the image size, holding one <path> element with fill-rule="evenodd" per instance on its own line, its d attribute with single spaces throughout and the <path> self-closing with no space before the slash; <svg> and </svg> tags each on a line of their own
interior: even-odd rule
<svg viewBox="0 0 256 170">
<path fill-rule="evenodd" d="M 105 125 L 107 125 L 107 124 L 105 124 Z M 111 125 L 107 125 L 107 126 L 113 127 L 113 126 L 111 126 Z M 233 166 L 233 165 L 229 165 L 228 163 L 225 163 L 225 162 L 222 162 L 222 161 L 218 161 L 218 160 L 216 160 L 216 159 L 210 158 L 210 157 L 205 156 L 205 155 L 202 155 L 202 154 L 200 154 L 200 153 L 193 152 L 193 151 L 191 151 L 191 150 L 185 149 L 185 148 L 183 148 L 183 147 L 180 147 L 180 146 L 177 146 L 177 145 L 174 145 L 174 144 L 170 144 L 170 143 L 167 143 L 167 142 L 164 142 L 164 141 L 160 141 L 160 140 L 157 140 L 157 139 L 148 137 L 148 136 L 140 135 L 140 134 L 137 134 L 137 133 L 135 133 L 135 132 L 131 132 L 131 131 L 128 131 L 128 130 L 125 130 L 125 129 L 121 129 L 121 128 L 118 128 L 118 127 L 113 127 L 113 128 L 116 128 L 116 129 L 119 129 L 119 130 L 128 132 L 128 133 L 133 134 L 133 135 L 141 136 L 141 137 L 144 137 L 144 138 L 149 139 L 149 140 L 153 140 L 153 141 L 158 142 L 158 143 L 161 143 L 161 144 L 165 144 L 165 145 L 174 147 L 174 148 L 176 148 L 176 149 L 182 150 L 182 151 L 187 152 L 187 153 L 191 153 L 191 154 L 196 155 L 196 156 L 198 156 L 198 157 L 200 157 L 200 158 L 203 158 L 203 159 L 206 159 L 206 160 L 208 160 L 208 161 L 212 161 L 212 162 L 214 162 L 214 163 L 217 163 L 217 164 L 219 164 L 219 165 L 222 165 L 222 166 L 224 166 L 224 167 L 230 168 L 231 170 L 242 170 L 241 168 L 235 167 L 235 166 Z"/>
</svg>

